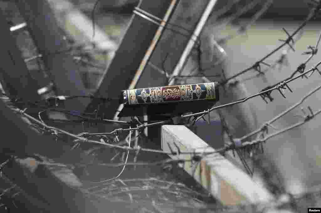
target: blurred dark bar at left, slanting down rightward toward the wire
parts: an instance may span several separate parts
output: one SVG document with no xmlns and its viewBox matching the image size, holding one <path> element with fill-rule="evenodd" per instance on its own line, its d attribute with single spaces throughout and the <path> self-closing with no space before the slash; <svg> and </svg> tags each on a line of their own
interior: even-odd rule
<svg viewBox="0 0 321 213">
<path fill-rule="evenodd" d="M 44 64 L 55 84 L 57 95 L 86 95 L 78 65 L 68 53 L 68 44 L 64 39 L 48 1 L 15 1 L 27 23 Z M 41 10 L 39 9 L 41 8 Z M 66 108 L 83 111 L 90 100 L 73 99 Z"/>
</svg>

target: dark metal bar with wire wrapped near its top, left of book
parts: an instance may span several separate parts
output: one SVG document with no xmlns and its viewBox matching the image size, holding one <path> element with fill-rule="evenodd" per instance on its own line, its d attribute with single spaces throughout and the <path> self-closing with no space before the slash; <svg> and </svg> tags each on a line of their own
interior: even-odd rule
<svg viewBox="0 0 321 213">
<path fill-rule="evenodd" d="M 171 3 L 172 0 L 143 0 L 138 7 L 163 18 Z M 158 28 L 159 26 L 150 21 L 138 15 L 133 15 L 116 55 L 110 63 L 108 71 L 100 81 L 99 89 L 95 93 L 96 97 L 115 97 L 118 96 L 115 91 L 118 92 L 130 86 Z M 97 105 L 97 101 L 92 101 L 87 107 L 87 111 L 93 111 L 97 108 Z M 109 102 L 104 107 L 101 107 L 104 110 L 105 118 L 112 118 L 118 106 L 117 102 Z"/>
</svg>

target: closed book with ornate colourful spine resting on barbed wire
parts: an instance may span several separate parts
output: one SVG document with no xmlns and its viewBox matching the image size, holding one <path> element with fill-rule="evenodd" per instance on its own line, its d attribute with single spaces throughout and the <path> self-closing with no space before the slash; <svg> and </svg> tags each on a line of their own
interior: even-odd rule
<svg viewBox="0 0 321 213">
<path fill-rule="evenodd" d="M 150 87 L 122 90 L 119 117 L 143 115 L 180 115 L 208 108 L 219 100 L 218 83 Z"/>
</svg>

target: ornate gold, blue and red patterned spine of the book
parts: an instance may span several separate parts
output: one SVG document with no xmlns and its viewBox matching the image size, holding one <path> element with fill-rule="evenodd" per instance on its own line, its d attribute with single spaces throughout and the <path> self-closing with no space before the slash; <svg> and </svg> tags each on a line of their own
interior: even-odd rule
<svg viewBox="0 0 321 213">
<path fill-rule="evenodd" d="M 218 101 L 217 82 L 177 86 L 127 89 L 122 91 L 124 105 L 160 104 L 196 100 Z"/>
</svg>

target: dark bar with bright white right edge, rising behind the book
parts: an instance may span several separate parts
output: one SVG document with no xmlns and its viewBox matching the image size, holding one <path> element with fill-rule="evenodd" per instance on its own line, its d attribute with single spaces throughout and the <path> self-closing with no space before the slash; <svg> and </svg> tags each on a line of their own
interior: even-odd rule
<svg viewBox="0 0 321 213">
<path fill-rule="evenodd" d="M 169 20 L 170 28 L 179 26 L 179 28 L 175 28 L 178 33 L 166 29 L 160 40 L 160 44 L 150 59 L 152 63 L 149 64 L 153 64 L 154 66 L 146 67 L 146 70 L 144 71 L 145 75 L 142 76 L 137 84 L 139 88 L 169 83 L 167 75 L 164 75 L 161 72 L 155 72 L 155 67 L 160 67 L 164 69 L 164 72 L 168 72 L 169 74 L 172 70 L 175 70 L 174 68 L 183 60 L 187 61 L 187 57 L 183 59 L 182 56 L 184 55 L 184 52 L 186 52 L 187 46 L 191 40 L 197 38 L 194 35 L 195 30 L 197 28 L 200 29 L 200 20 L 202 20 L 206 8 L 208 8 L 208 1 L 181 1 L 180 4 L 178 4 L 175 13 Z M 159 69 L 157 69 L 157 71 L 158 70 Z M 150 116 L 150 120 L 153 119 L 154 118 Z M 149 136 L 151 140 L 159 140 L 160 128 L 150 127 Z"/>
</svg>

